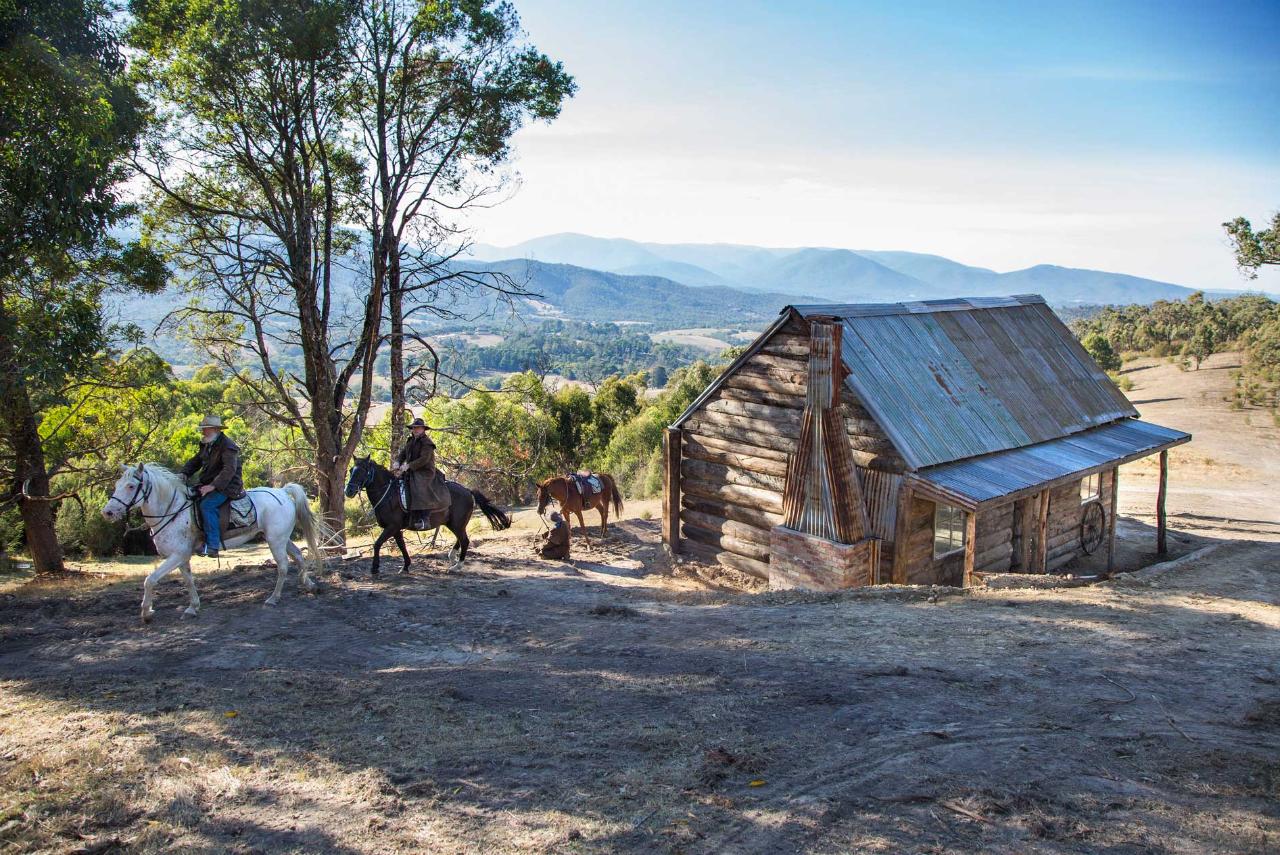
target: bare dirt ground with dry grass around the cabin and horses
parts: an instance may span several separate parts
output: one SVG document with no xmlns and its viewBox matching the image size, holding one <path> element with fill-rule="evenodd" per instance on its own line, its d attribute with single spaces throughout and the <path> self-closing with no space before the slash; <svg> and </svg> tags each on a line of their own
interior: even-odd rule
<svg viewBox="0 0 1280 855">
<path fill-rule="evenodd" d="M 1087 586 L 750 593 L 640 502 L 572 563 L 526 512 L 460 573 L 333 561 L 276 608 L 206 562 L 148 627 L 145 566 L 12 585 L 0 851 L 1274 851 L 1280 544 L 1219 449 L 1272 439 L 1229 427 L 1175 459 L 1181 558 Z"/>
</svg>

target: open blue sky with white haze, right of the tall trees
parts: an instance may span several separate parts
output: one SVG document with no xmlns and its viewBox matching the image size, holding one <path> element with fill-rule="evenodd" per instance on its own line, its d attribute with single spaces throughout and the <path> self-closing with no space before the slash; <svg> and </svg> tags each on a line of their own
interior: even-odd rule
<svg viewBox="0 0 1280 855">
<path fill-rule="evenodd" d="M 1239 288 L 1280 3 L 516 0 L 580 92 L 477 237 L 913 250 Z M 1280 291 L 1280 275 L 1254 287 Z"/>
</svg>

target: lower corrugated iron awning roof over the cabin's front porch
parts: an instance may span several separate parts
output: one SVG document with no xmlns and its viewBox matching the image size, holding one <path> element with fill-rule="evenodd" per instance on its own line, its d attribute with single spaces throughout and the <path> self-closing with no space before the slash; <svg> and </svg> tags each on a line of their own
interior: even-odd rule
<svg viewBox="0 0 1280 855">
<path fill-rule="evenodd" d="M 918 471 L 915 477 L 974 506 L 1056 479 L 1146 457 L 1189 439 L 1190 434 L 1180 430 L 1125 419 L 1025 448 L 931 466 Z"/>
</svg>

